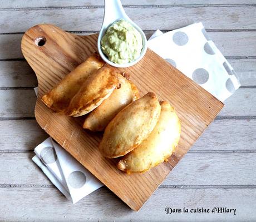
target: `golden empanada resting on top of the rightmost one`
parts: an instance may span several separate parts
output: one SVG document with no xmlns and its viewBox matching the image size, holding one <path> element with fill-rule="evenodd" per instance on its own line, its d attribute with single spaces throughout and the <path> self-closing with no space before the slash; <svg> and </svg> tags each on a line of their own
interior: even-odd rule
<svg viewBox="0 0 256 222">
<path fill-rule="evenodd" d="M 159 119 L 161 106 L 154 93 L 130 103 L 107 125 L 99 149 L 108 158 L 124 156 L 149 136 Z"/>
</svg>

